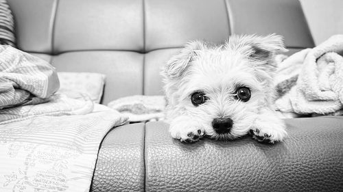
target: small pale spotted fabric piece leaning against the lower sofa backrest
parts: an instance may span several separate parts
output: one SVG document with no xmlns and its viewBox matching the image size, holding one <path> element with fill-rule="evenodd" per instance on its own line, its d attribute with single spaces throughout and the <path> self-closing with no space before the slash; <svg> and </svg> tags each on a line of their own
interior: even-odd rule
<svg viewBox="0 0 343 192">
<path fill-rule="evenodd" d="M 105 74 L 95 72 L 58 72 L 61 94 L 69 98 L 82 98 L 88 95 L 95 103 L 99 103 L 104 92 Z"/>
</svg>

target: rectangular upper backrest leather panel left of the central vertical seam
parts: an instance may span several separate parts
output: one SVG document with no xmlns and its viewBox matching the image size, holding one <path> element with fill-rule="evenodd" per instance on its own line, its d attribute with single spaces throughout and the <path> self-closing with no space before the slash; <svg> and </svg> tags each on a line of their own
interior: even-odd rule
<svg viewBox="0 0 343 192">
<path fill-rule="evenodd" d="M 59 0 L 54 50 L 143 51 L 143 1 Z"/>
</svg>

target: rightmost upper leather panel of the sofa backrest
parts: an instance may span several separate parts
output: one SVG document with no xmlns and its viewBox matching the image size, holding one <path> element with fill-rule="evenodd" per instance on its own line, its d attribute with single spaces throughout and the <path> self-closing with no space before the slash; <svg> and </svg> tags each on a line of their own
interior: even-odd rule
<svg viewBox="0 0 343 192">
<path fill-rule="evenodd" d="M 285 37 L 286 46 L 312 47 L 303 10 L 297 0 L 226 0 L 231 33 L 277 33 Z"/>
</svg>

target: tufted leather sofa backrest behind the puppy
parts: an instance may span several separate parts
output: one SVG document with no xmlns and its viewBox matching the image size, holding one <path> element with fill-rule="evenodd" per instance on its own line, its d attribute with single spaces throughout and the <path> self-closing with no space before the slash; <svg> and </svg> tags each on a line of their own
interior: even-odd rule
<svg viewBox="0 0 343 192">
<path fill-rule="evenodd" d="M 160 68 L 189 40 L 277 33 L 314 46 L 296 0 L 8 0 L 19 49 L 58 71 L 106 74 L 103 103 L 163 94 Z"/>
</svg>

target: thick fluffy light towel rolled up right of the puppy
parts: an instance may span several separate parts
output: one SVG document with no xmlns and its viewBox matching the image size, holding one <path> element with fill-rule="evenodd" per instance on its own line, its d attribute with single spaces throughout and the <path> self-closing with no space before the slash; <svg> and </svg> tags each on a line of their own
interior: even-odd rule
<svg viewBox="0 0 343 192">
<path fill-rule="evenodd" d="M 276 110 L 296 114 L 339 113 L 343 107 L 343 35 L 284 59 L 276 72 Z"/>
</svg>

